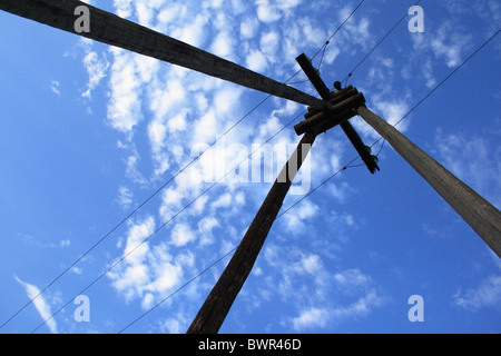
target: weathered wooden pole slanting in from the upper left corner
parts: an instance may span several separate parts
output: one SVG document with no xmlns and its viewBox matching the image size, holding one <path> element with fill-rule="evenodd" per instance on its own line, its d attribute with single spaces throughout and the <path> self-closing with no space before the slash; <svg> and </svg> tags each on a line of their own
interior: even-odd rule
<svg viewBox="0 0 501 356">
<path fill-rule="evenodd" d="M 80 6 L 89 9 L 89 32 L 75 30 L 79 18 L 75 10 Z M 0 10 L 303 105 L 322 102 L 295 88 L 81 1 L 0 0 Z"/>
</svg>

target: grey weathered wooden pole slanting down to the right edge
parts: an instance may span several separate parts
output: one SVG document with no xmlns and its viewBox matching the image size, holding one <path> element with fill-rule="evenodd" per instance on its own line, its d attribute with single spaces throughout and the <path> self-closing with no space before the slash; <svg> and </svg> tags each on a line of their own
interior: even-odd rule
<svg viewBox="0 0 501 356">
<path fill-rule="evenodd" d="M 365 106 L 356 112 L 371 125 L 395 151 L 466 221 L 501 257 L 501 212 L 458 177 L 446 170 L 404 135 Z"/>
</svg>

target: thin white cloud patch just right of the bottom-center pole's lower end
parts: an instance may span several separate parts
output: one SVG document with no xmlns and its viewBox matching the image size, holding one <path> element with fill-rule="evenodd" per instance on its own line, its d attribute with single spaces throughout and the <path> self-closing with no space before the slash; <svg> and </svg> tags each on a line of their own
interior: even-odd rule
<svg viewBox="0 0 501 356">
<path fill-rule="evenodd" d="M 297 310 L 294 316 L 284 315 L 295 332 L 333 330 L 343 320 L 366 317 L 383 303 L 371 276 L 357 268 L 332 273 L 324 250 L 305 254 L 291 243 L 286 247 L 268 244 L 263 255 L 267 266 L 256 268 L 266 268 L 267 273 L 255 275 L 263 283 L 257 289 L 266 290 L 267 300 L 277 296 L 282 304 Z"/>
</svg>

